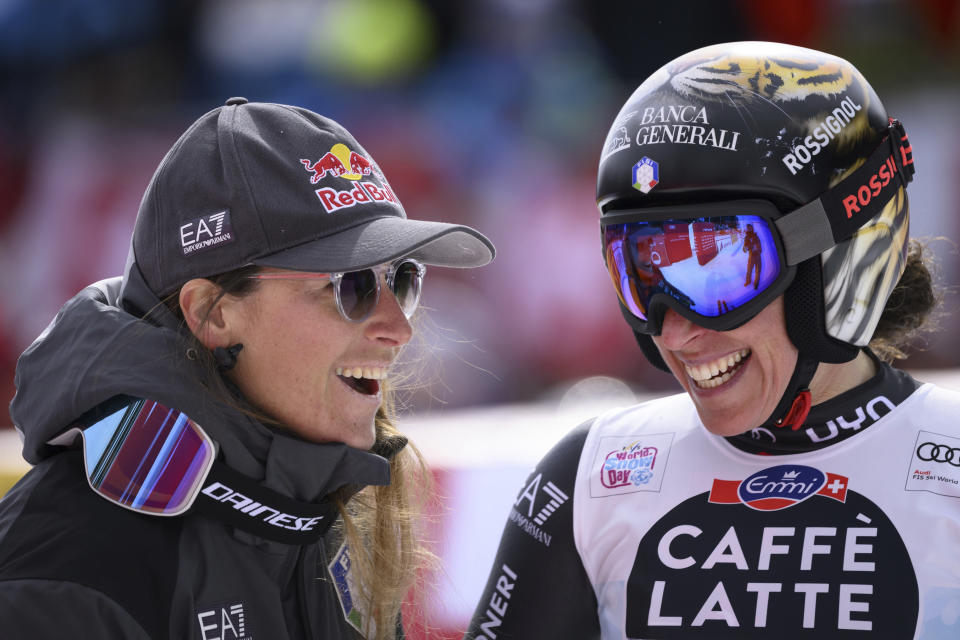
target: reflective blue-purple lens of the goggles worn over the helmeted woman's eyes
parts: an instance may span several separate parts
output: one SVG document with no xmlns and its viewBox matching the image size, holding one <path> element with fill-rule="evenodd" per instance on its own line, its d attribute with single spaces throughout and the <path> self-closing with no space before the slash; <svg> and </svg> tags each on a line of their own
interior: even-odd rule
<svg viewBox="0 0 960 640">
<path fill-rule="evenodd" d="M 620 301 L 647 321 L 666 294 L 700 316 L 724 315 L 757 298 L 780 275 L 770 223 L 751 215 L 609 224 L 607 270 Z"/>
</svg>

